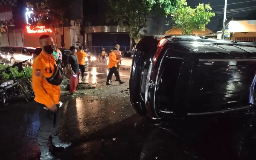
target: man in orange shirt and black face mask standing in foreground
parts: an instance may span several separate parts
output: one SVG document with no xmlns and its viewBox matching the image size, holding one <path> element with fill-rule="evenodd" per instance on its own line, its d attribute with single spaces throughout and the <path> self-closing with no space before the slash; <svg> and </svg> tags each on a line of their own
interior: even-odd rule
<svg viewBox="0 0 256 160">
<path fill-rule="evenodd" d="M 42 52 L 35 58 L 32 70 L 32 88 L 35 92 L 35 101 L 38 103 L 40 128 L 38 132 L 38 144 L 41 150 L 40 160 L 60 160 L 49 152 L 49 137 L 52 137 L 52 145 L 58 148 L 66 148 L 70 142 L 61 142 L 58 136 L 58 127 L 61 116 L 59 111 L 60 84 L 63 73 L 56 65 L 52 55 L 55 46 L 49 35 L 41 35 L 39 38 Z"/>
</svg>

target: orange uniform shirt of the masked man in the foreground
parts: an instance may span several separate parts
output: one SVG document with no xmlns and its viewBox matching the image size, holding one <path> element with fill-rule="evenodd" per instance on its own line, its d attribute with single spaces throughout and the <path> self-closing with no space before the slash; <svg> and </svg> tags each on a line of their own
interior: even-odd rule
<svg viewBox="0 0 256 160">
<path fill-rule="evenodd" d="M 35 101 L 49 108 L 51 105 L 58 105 L 61 98 L 60 86 L 49 84 L 45 77 L 52 76 L 56 65 L 53 55 L 48 56 L 42 51 L 32 64 L 32 88 L 35 92 Z M 52 73 L 49 73 L 51 68 Z"/>
</svg>

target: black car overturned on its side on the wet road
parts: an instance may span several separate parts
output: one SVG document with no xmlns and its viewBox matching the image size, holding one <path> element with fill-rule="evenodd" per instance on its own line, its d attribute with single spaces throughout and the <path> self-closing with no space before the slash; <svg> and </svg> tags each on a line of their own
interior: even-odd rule
<svg viewBox="0 0 256 160">
<path fill-rule="evenodd" d="M 157 119 L 246 110 L 255 106 L 255 74 L 253 42 L 145 36 L 134 52 L 130 100 Z"/>
</svg>

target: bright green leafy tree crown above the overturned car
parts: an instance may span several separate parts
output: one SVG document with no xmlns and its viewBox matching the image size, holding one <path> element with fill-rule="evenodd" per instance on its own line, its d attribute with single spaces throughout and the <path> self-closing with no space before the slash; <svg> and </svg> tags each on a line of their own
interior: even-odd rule
<svg viewBox="0 0 256 160">
<path fill-rule="evenodd" d="M 215 16 L 210 12 L 212 8 L 209 4 L 200 4 L 192 9 L 187 6 L 186 0 L 180 0 L 177 9 L 172 13 L 172 20 L 177 28 L 181 29 L 183 35 L 193 34 L 193 29 L 205 30 L 205 26 L 210 22 L 210 18 Z M 167 23 L 167 25 L 169 22 Z"/>
</svg>

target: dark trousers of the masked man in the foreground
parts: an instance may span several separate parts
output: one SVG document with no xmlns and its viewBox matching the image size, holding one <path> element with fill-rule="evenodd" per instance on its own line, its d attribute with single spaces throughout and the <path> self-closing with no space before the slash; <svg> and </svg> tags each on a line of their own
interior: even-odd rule
<svg viewBox="0 0 256 160">
<path fill-rule="evenodd" d="M 52 137 L 52 144 L 56 145 L 61 142 L 58 136 L 58 127 L 61 122 L 61 115 L 59 109 L 56 113 L 44 109 L 45 105 L 38 103 L 39 105 L 39 119 L 40 128 L 38 132 L 38 144 L 42 154 L 49 151 L 48 140 Z"/>
</svg>

